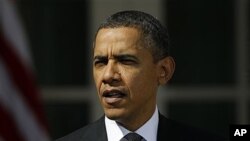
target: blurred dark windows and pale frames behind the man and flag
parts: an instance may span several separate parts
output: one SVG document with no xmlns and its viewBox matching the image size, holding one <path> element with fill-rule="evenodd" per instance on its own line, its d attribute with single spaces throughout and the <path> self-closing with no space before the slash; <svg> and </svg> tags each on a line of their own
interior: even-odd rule
<svg viewBox="0 0 250 141">
<path fill-rule="evenodd" d="M 250 1 L 17 0 L 52 139 L 103 115 L 92 80 L 98 25 L 141 10 L 167 26 L 176 61 L 158 93 L 167 117 L 228 136 L 250 122 Z"/>
</svg>

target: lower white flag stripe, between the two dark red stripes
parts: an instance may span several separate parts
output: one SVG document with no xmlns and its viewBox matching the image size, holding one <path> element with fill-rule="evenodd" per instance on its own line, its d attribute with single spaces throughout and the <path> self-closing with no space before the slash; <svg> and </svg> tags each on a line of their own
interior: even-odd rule
<svg viewBox="0 0 250 141">
<path fill-rule="evenodd" d="M 49 141 L 45 130 L 39 126 L 33 113 L 21 97 L 21 94 L 12 84 L 1 58 L 0 78 L 0 102 L 14 118 L 19 131 L 26 141 Z"/>
</svg>

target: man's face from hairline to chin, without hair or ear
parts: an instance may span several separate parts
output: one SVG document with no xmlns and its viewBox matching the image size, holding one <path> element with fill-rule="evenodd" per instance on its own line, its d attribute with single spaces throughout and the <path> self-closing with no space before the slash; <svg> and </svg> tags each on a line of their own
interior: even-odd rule
<svg viewBox="0 0 250 141">
<path fill-rule="evenodd" d="M 110 119 L 138 120 L 155 110 L 159 71 L 140 39 L 138 30 L 129 27 L 105 28 L 97 34 L 93 75 Z"/>
</svg>

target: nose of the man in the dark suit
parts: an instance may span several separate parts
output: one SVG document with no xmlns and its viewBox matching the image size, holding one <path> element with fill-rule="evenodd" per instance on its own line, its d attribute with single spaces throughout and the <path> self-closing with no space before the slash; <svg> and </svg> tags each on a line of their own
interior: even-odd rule
<svg viewBox="0 0 250 141">
<path fill-rule="evenodd" d="M 115 61 L 109 60 L 103 73 L 103 83 L 109 85 L 117 85 L 121 81 L 118 66 Z"/>
</svg>

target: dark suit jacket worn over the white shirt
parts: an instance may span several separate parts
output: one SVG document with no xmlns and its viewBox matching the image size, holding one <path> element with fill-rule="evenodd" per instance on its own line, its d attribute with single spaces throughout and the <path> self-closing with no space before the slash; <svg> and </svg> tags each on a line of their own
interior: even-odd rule
<svg viewBox="0 0 250 141">
<path fill-rule="evenodd" d="M 107 141 L 104 117 L 57 141 Z M 172 121 L 160 114 L 157 141 L 225 141 L 225 139 Z"/>
</svg>

